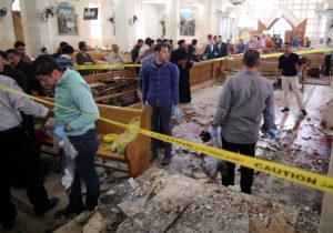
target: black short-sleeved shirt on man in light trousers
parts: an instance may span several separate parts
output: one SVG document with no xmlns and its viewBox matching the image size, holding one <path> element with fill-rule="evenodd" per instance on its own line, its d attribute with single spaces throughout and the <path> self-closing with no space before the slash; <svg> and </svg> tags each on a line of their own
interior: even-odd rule
<svg viewBox="0 0 333 233">
<path fill-rule="evenodd" d="M 284 77 L 297 75 L 296 64 L 301 65 L 302 62 L 296 53 L 290 53 L 289 57 L 284 54 L 279 58 L 279 69 L 282 70 Z"/>
</svg>

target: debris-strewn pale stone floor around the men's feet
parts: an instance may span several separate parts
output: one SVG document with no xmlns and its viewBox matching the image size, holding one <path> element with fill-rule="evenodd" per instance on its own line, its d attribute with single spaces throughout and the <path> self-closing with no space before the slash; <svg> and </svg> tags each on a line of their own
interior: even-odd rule
<svg viewBox="0 0 333 233">
<path fill-rule="evenodd" d="M 180 124 L 174 125 L 173 135 L 189 141 L 201 142 L 199 134 L 202 130 L 208 129 L 209 122 L 215 113 L 220 90 L 221 85 L 216 83 L 195 91 L 192 94 L 192 103 L 181 105 L 183 120 Z M 333 93 L 332 88 L 330 87 L 305 85 L 304 101 L 306 103 L 309 115 L 300 118 L 294 97 L 291 102 L 291 112 L 286 114 L 281 113 L 282 91 L 276 90 L 275 123 L 278 126 L 278 136 L 276 140 L 261 138 L 256 144 L 256 156 L 306 171 L 325 174 L 327 172 L 332 139 L 322 133 L 320 121 L 325 103 L 332 98 Z M 162 224 L 168 232 L 195 232 L 193 231 L 195 229 L 198 230 L 196 232 L 209 232 L 206 231 L 208 229 L 204 229 L 208 225 L 218 227 L 211 229 L 210 232 L 249 232 L 250 229 L 252 232 L 261 232 L 259 225 L 275 227 L 274 220 L 276 221 L 279 216 L 276 215 L 274 219 L 272 214 L 273 212 L 278 213 L 279 211 L 282 211 L 282 213 L 287 215 L 284 220 L 290 221 L 290 224 L 286 224 L 284 227 L 285 232 L 293 232 L 293 230 L 295 230 L 295 232 L 317 232 L 323 192 L 256 172 L 253 184 L 253 195 L 250 196 L 239 193 L 239 185 L 232 186 L 231 189 L 224 189 L 221 185 L 220 178 L 218 178 L 215 182 L 209 181 L 202 170 L 203 155 L 180 146 L 173 146 L 173 155 L 172 163 L 162 168 L 160 165 L 160 159 L 163 156 L 161 152 L 160 159 L 157 160 L 152 166 L 167 170 L 162 173 L 159 170 L 158 173 L 160 172 L 159 174 L 161 174 L 161 176 L 163 176 L 164 173 L 165 175 L 171 175 L 171 180 L 175 179 L 175 183 L 180 180 L 189 181 L 189 183 L 193 183 L 194 181 L 198 186 L 204 188 L 206 191 L 200 194 L 198 193 L 199 197 L 195 195 L 195 204 L 189 202 L 189 200 L 191 201 L 189 197 L 178 200 L 178 202 L 182 202 L 182 205 L 179 205 L 179 210 L 168 211 L 168 214 L 173 214 L 174 217 L 167 217 L 169 222 L 164 221 L 163 224 L 161 222 L 158 223 L 160 226 Z M 67 223 L 64 220 L 54 221 L 52 217 L 54 211 L 64 207 L 67 204 L 67 195 L 60 185 L 59 174 L 54 173 L 58 161 L 52 156 L 43 155 L 43 162 L 49 171 L 44 185 L 50 196 L 60 197 L 60 204 L 44 216 L 37 217 L 32 213 L 26 192 L 21 189 L 12 189 L 13 202 L 17 205 L 19 214 L 16 222 L 16 229 L 8 232 L 52 232 Z M 99 168 L 99 174 L 104 183 L 101 188 L 103 193 L 128 179 L 127 175 L 118 172 L 112 173 L 112 178 L 108 178 L 105 170 L 102 168 Z M 151 176 L 153 176 L 152 173 L 150 173 L 150 176 L 145 175 L 147 180 L 144 180 L 144 178 L 139 178 L 138 180 L 138 183 L 142 189 L 144 182 L 150 181 L 150 185 L 145 188 L 145 193 L 139 195 L 147 196 L 147 193 L 149 193 L 145 201 L 151 199 L 151 193 L 158 193 L 157 190 L 152 190 L 157 188 L 157 185 L 154 186 L 152 181 L 149 180 Z M 109 182 L 105 182 L 105 179 L 109 179 Z M 158 183 L 158 189 L 161 189 L 161 182 Z M 239 173 L 236 173 L 235 183 L 239 183 Z M 184 185 L 183 182 L 181 182 L 181 184 Z M 195 188 L 195 185 L 191 185 L 191 189 L 193 186 Z M 194 189 L 191 193 L 199 191 Z M 163 196 L 163 193 L 161 195 Z M 159 196 L 159 194 L 155 194 L 155 196 Z M 185 195 L 184 193 L 183 196 L 191 195 Z M 114 203 L 109 206 L 107 204 L 108 200 L 105 201 L 105 199 L 108 199 L 108 195 L 104 195 L 101 199 L 99 214 L 103 216 L 108 214 L 112 216 L 115 214 L 119 220 L 118 224 L 120 224 L 125 217 L 118 213 L 118 209 L 113 206 Z M 131 227 L 133 230 L 135 224 L 139 223 L 140 227 L 144 229 L 148 220 L 150 226 L 155 224 L 153 221 L 154 217 L 148 216 L 149 214 L 147 212 L 148 210 L 151 210 L 155 211 L 154 213 L 160 213 L 159 210 L 161 206 L 159 204 L 152 204 L 153 202 L 154 199 L 151 199 L 145 211 L 142 211 L 141 214 L 135 212 L 137 219 L 130 216 L 125 222 L 122 222 L 118 229 L 119 232 L 139 232 L 127 230 Z M 167 202 L 167 205 L 168 204 L 170 203 Z M 165 203 L 163 206 L 165 206 Z M 220 206 L 221 209 L 216 209 L 216 206 Z M 245 209 L 248 211 L 246 214 L 244 214 Z M 88 214 L 88 216 L 90 215 Z M 145 219 L 145 216 L 148 219 Z M 160 215 L 157 214 L 157 216 Z M 100 217 L 101 216 L 94 214 L 91 219 L 99 220 Z M 171 220 L 173 219 L 176 219 L 176 221 L 172 222 Z M 212 220 L 219 220 L 220 222 L 212 223 L 210 222 Z M 278 223 L 280 224 L 284 220 L 280 220 Z M 85 223 L 87 222 L 89 225 L 91 221 L 87 220 Z M 225 224 L 226 222 L 233 224 Z M 105 232 L 117 231 L 115 225 L 118 224 L 110 224 L 110 227 Z M 91 226 L 91 229 L 93 229 L 93 226 Z M 61 227 L 59 230 L 61 230 Z M 275 230 L 278 231 L 279 229 Z M 81 227 L 79 232 L 82 231 L 83 227 Z M 0 232 L 6 231 L 2 231 L 0 227 Z M 73 230 L 72 232 L 75 231 Z M 87 230 L 85 232 L 89 231 Z"/>
</svg>

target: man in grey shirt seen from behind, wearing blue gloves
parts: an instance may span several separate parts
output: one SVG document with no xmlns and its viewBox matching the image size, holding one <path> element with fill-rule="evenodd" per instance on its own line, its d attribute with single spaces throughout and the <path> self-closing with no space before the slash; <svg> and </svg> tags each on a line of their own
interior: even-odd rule
<svg viewBox="0 0 333 233">
<path fill-rule="evenodd" d="M 262 133 L 269 134 L 271 139 L 275 136 L 274 89 L 256 72 L 259 60 L 260 54 L 255 50 L 244 53 L 243 71 L 230 77 L 223 84 L 212 126 L 205 132 L 209 139 L 214 138 L 221 126 L 222 148 L 249 156 L 255 154 L 262 114 Z M 235 164 L 226 162 L 226 168 L 228 174 L 222 175 L 222 184 L 234 185 Z M 251 194 L 253 173 L 252 169 L 241 166 L 242 192 Z"/>
</svg>

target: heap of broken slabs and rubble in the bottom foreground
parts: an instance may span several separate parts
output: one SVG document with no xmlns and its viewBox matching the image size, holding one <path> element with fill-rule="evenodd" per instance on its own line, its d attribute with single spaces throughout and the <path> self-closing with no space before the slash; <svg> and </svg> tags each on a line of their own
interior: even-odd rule
<svg viewBox="0 0 333 233">
<path fill-rule="evenodd" d="M 111 189 L 78 227 L 84 233 L 289 233 L 295 231 L 297 215 L 294 207 L 151 168 Z"/>
</svg>

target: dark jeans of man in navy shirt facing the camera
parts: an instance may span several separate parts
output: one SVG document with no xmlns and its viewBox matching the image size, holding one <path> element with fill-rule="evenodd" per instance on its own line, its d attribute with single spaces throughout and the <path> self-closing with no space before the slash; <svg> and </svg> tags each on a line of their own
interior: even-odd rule
<svg viewBox="0 0 333 233">
<path fill-rule="evenodd" d="M 151 113 L 151 130 L 153 132 L 159 132 L 160 129 L 162 130 L 163 134 L 171 135 L 171 105 L 169 107 L 157 107 L 152 105 L 152 113 Z M 159 140 L 151 139 L 151 154 L 152 156 L 158 156 L 158 149 L 159 149 Z M 164 142 L 164 155 L 171 155 L 172 146 L 170 143 Z"/>
</svg>

